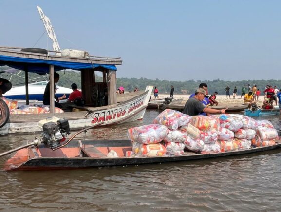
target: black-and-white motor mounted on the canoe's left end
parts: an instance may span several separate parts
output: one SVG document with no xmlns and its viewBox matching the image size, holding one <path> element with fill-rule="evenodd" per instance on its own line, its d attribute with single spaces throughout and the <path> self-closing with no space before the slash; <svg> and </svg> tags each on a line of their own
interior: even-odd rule
<svg viewBox="0 0 281 212">
<path fill-rule="evenodd" d="M 65 141 L 66 136 L 70 134 L 69 123 L 67 119 L 48 117 L 38 122 L 42 129 L 41 140 L 48 148 L 57 148 L 61 142 Z"/>
</svg>

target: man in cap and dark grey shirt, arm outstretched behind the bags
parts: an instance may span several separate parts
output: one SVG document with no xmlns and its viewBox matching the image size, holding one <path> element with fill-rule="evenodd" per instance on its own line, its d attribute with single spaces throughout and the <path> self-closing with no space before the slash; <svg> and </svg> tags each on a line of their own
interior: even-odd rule
<svg viewBox="0 0 281 212">
<path fill-rule="evenodd" d="M 225 114 L 225 110 L 227 110 L 227 108 L 216 110 L 205 107 L 201 103 L 205 97 L 208 97 L 206 91 L 203 88 L 198 88 L 195 95 L 187 100 L 183 113 L 189 116 L 197 116 L 202 112 L 207 114 Z"/>
</svg>

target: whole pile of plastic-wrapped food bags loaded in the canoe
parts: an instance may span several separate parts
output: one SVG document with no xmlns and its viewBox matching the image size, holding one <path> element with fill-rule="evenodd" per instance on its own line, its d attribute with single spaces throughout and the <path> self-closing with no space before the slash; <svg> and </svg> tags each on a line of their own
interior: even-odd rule
<svg viewBox="0 0 281 212">
<path fill-rule="evenodd" d="M 153 124 L 159 129 L 162 126 L 162 137 L 158 136 L 154 139 L 156 135 L 151 136 L 151 129 L 155 130 Z M 154 119 L 153 124 L 128 130 L 128 137 L 133 142 L 133 151 L 136 147 L 141 149 L 144 148 L 143 145 L 149 145 L 152 142 L 159 146 L 163 143 L 166 154 L 169 155 L 182 155 L 184 148 L 196 153 L 211 154 L 249 149 L 251 145 L 274 145 L 277 138 L 277 131 L 269 121 L 256 121 L 251 117 L 235 114 L 188 116 L 166 109 Z M 167 129 L 167 132 L 164 129 Z M 135 133 L 130 133 L 132 131 Z M 146 138 L 138 139 L 141 135 L 145 135 Z M 151 141 L 150 137 L 154 140 Z M 159 150 L 161 154 L 164 154 L 162 146 Z M 152 156 L 147 152 L 146 149 L 144 152 L 141 149 L 141 153 L 134 151 L 134 154 Z"/>
</svg>

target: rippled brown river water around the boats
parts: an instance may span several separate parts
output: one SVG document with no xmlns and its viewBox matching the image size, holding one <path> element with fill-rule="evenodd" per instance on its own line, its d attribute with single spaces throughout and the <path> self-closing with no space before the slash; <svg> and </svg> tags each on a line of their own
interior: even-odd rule
<svg viewBox="0 0 281 212">
<path fill-rule="evenodd" d="M 126 139 L 143 121 L 90 130 L 87 138 Z M 279 117 L 268 118 L 281 128 Z M 1 136 L 0 152 L 33 135 Z M 80 134 L 79 138 L 83 138 Z M 0 166 L 9 158 L 0 158 Z M 1 211 L 280 211 L 281 150 L 191 162 L 56 171 L 0 171 Z"/>
</svg>

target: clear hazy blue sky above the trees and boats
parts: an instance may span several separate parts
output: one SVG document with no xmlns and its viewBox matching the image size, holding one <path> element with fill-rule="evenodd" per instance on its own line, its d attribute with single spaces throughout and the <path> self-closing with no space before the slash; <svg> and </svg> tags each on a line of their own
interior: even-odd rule
<svg viewBox="0 0 281 212">
<path fill-rule="evenodd" d="M 120 57 L 119 78 L 281 79 L 280 0 L 0 0 L 0 46 L 52 50 L 37 5 L 61 49 Z"/>
</svg>

